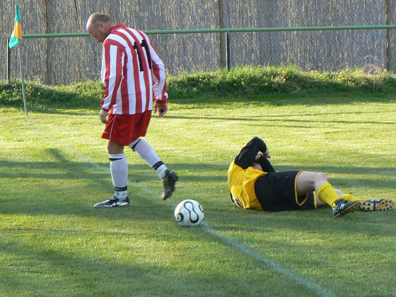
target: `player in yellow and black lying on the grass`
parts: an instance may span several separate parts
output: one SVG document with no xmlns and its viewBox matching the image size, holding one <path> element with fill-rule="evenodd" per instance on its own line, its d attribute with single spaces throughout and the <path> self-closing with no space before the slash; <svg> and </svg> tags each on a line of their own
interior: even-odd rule
<svg viewBox="0 0 396 297">
<path fill-rule="evenodd" d="M 228 168 L 232 202 L 244 209 L 267 211 L 333 207 L 339 216 L 355 210 L 388 210 L 393 200 L 366 200 L 333 188 L 325 173 L 308 171 L 275 172 L 264 141 L 254 137 L 241 149 Z"/>
</svg>

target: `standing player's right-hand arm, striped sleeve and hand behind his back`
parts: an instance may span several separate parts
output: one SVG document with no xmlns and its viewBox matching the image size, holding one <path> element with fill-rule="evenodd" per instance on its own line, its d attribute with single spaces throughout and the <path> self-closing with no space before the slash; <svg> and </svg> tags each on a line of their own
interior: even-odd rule
<svg viewBox="0 0 396 297">
<path fill-rule="evenodd" d="M 141 33 L 145 38 L 145 42 L 150 53 L 149 58 L 151 60 L 151 71 L 153 80 L 152 90 L 155 99 L 154 113 L 159 110 L 158 115 L 162 116 L 168 111 L 168 93 L 166 93 L 165 66 L 154 45 L 148 39 L 147 35 L 143 32 Z"/>
</svg>

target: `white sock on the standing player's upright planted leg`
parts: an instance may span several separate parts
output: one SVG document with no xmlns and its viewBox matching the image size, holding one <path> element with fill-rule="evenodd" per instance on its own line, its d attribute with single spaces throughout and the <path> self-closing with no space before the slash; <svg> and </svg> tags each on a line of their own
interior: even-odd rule
<svg viewBox="0 0 396 297">
<path fill-rule="evenodd" d="M 128 164 L 125 154 L 109 154 L 110 174 L 114 195 L 118 199 L 127 198 Z"/>
</svg>

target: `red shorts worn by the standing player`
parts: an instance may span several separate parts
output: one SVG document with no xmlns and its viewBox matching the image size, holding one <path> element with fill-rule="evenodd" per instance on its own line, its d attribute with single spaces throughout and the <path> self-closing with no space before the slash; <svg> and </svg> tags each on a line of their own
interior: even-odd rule
<svg viewBox="0 0 396 297">
<path fill-rule="evenodd" d="M 151 110 L 136 114 L 110 113 L 102 138 L 128 146 L 133 139 L 146 135 L 150 118 Z"/>
</svg>

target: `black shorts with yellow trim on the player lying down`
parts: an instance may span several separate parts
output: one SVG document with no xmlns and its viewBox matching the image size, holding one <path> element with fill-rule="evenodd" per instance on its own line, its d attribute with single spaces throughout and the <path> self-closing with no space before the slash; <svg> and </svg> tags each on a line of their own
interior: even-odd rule
<svg viewBox="0 0 396 297">
<path fill-rule="evenodd" d="M 297 197 L 296 180 L 301 171 L 269 172 L 254 184 L 254 192 L 263 210 L 281 211 L 316 208 L 313 192 Z"/>
</svg>

